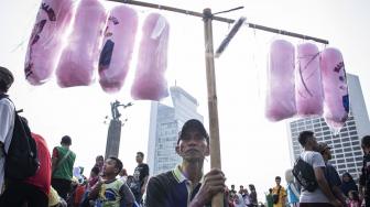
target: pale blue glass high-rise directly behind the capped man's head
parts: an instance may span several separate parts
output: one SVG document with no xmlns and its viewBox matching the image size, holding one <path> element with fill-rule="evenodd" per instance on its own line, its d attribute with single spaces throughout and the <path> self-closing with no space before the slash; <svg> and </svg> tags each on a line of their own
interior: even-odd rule
<svg viewBox="0 0 370 207">
<path fill-rule="evenodd" d="M 172 170 L 181 162 L 175 152 L 178 132 L 188 119 L 203 121 L 197 100 L 184 89 L 170 88 L 172 106 L 152 101 L 148 142 L 150 175 Z"/>
</svg>

